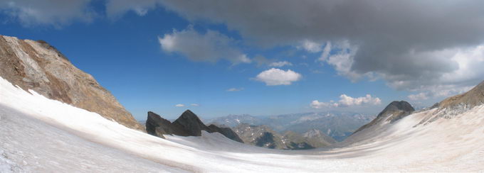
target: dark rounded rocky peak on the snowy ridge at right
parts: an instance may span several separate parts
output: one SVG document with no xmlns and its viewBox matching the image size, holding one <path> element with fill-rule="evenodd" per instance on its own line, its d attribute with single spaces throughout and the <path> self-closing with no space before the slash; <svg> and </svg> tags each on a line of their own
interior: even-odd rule
<svg viewBox="0 0 484 173">
<path fill-rule="evenodd" d="M 379 123 L 394 123 L 395 121 L 399 121 L 399 119 L 410 115 L 414 111 L 414 107 L 412 107 L 409 102 L 392 101 L 388 106 L 383 109 L 382 112 L 378 113 L 377 118 L 375 118 L 372 122 L 363 125 L 361 128 L 358 128 L 358 130 L 354 131 L 354 133 L 358 133 L 365 128 L 369 128 L 372 125 L 377 125 Z"/>
</svg>

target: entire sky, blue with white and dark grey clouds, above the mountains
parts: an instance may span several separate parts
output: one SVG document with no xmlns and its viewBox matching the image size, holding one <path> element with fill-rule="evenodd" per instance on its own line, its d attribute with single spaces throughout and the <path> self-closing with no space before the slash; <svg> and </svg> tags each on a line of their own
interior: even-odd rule
<svg viewBox="0 0 484 173">
<path fill-rule="evenodd" d="M 431 106 L 484 79 L 484 1 L 0 0 L 138 120 Z"/>
</svg>

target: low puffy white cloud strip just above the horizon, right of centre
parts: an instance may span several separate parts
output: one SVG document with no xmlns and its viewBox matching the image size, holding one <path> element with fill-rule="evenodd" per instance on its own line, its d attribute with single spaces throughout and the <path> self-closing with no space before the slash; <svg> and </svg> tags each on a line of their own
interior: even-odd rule
<svg viewBox="0 0 484 173">
<path fill-rule="evenodd" d="M 378 97 L 371 96 L 367 94 L 363 97 L 353 98 L 342 94 L 340 96 L 340 101 L 330 101 L 330 102 L 320 102 L 312 101 L 310 106 L 312 108 L 335 108 L 335 107 L 349 107 L 349 106 L 367 106 L 367 105 L 379 105 L 382 104 L 382 100 Z"/>
</svg>

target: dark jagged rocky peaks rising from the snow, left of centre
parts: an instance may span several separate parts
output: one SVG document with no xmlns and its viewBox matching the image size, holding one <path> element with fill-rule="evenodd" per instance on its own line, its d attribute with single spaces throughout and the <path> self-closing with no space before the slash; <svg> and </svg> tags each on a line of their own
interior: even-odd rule
<svg viewBox="0 0 484 173">
<path fill-rule="evenodd" d="M 190 110 L 184 111 L 173 123 L 162 118 L 157 113 L 153 113 L 152 111 L 148 112 L 146 131 L 150 135 L 155 135 L 159 138 L 164 138 L 164 135 L 201 136 L 201 130 L 209 133 L 221 133 L 231 140 L 243 143 L 243 140 L 231 128 L 220 128 L 213 124 L 206 126 Z"/>
</svg>

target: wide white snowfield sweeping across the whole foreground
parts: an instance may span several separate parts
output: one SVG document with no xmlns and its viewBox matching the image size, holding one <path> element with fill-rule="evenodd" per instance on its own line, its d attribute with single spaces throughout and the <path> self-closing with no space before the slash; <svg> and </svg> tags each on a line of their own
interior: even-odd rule
<svg viewBox="0 0 484 173">
<path fill-rule="evenodd" d="M 164 140 L 30 92 L 0 78 L 0 172 L 484 171 L 484 106 L 416 127 L 435 109 L 414 113 L 337 147 L 295 151 L 219 133 Z"/>
</svg>

